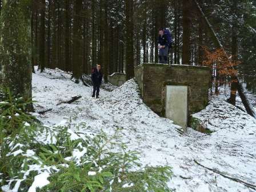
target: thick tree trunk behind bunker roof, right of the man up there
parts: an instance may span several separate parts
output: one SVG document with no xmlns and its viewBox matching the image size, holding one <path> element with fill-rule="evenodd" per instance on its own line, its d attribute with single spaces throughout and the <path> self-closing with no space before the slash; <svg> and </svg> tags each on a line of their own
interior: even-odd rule
<svg viewBox="0 0 256 192">
<path fill-rule="evenodd" d="M 190 0 L 183 0 L 182 64 L 190 65 Z"/>
</svg>

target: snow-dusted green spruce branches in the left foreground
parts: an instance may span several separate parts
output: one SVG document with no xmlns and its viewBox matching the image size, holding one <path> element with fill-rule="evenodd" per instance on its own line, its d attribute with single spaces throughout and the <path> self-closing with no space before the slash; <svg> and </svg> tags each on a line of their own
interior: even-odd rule
<svg viewBox="0 0 256 192">
<path fill-rule="evenodd" d="M 117 142 L 118 130 L 109 136 L 79 131 L 86 123 L 76 131 L 42 126 L 25 113 L 31 101 L 13 98 L 7 89 L 0 98 L 2 191 L 170 191 L 171 167 L 142 166 L 137 151 Z M 43 174 L 45 186 L 33 188 Z"/>
</svg>

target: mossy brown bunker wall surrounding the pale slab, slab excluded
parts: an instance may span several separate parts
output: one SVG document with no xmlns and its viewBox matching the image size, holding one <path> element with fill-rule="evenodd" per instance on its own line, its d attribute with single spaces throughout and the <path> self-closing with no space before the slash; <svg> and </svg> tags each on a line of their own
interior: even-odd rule
<svg viewBox="0 0 256 192">
<path fill-rule="evenodd" d="M 203 66 L 143 63 L 135 67 L 135 78 L 143 101 L 155 113 L 165 117 L 165 86 L 189 87 L 189 114 L 205 108 L 208 103 L 210 69 Z"/>
</svg>

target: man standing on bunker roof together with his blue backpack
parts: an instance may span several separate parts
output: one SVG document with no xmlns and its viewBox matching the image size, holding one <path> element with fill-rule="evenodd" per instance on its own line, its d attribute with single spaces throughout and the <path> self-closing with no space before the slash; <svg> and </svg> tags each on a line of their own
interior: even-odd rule
<svg viewBox="0 0 256 192">
<path fill-rule="evenodd" d="M 168 63 L 168 53 L 171 49 L 171 33 L 165 28 L 159 29 L 158 36 L 159 63 Z"/>
</svg>

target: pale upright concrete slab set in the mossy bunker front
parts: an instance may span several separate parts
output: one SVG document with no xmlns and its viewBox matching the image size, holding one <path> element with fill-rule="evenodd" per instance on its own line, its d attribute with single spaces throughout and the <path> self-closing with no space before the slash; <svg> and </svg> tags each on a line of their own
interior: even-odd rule
<svg viewBox="0 0 256 192">
<path fill-rule="evenodd" d="M 187 128 L 187 93 L 187 86 L 166 86 L 166 118 L 173 120 L 184 131 Z"/>
</svg>

